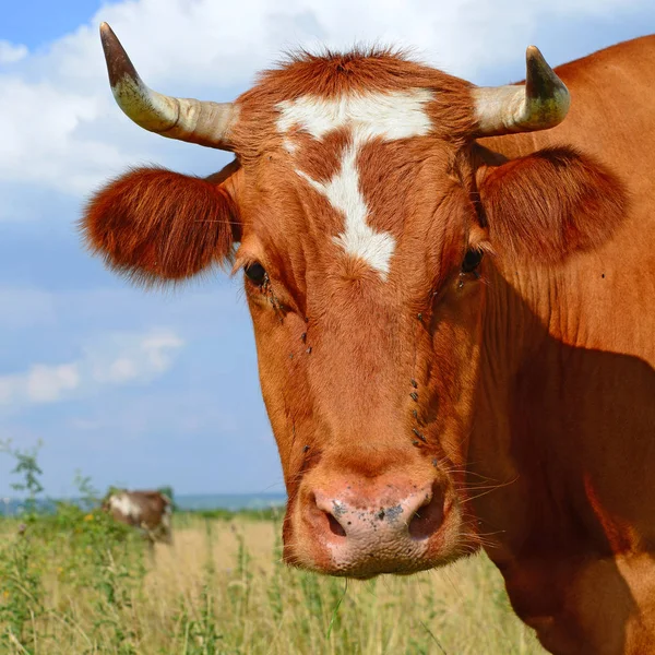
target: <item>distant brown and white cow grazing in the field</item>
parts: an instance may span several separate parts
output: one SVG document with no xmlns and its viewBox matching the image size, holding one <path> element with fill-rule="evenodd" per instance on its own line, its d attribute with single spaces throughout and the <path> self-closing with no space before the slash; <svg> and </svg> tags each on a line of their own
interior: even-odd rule
<svg viewBox="0 0 655 655">
<path fill-rule="evenodd" d="M 103 501 L 103 510 L 115 521 L 139 528 L 150 545 L 172 543 L 171 502 L 160 491 L 112 490 Z"/>
</svg>

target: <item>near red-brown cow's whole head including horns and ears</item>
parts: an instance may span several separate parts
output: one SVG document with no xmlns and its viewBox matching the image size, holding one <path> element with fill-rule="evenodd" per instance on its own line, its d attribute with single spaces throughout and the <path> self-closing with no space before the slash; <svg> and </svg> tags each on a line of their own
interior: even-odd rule
<svg viewBox="0 0 655 655">
<path fill-rule="evenodd" d="M 130 118 L 236 154 L 207 179 L 132 170 L 92 199 L 83 229 L 138 282 L 243 271 L 289 497 L 286 560 L 367 577 L 473 551 L 483 255 L 584 248 L 581 207 L 603 202 L 605 175 L 568 150 L 503 162 L 475 139 L 557 124 L 565 86 L 536 48 L 526 85 L 501 88 L 388 51 L 302 55 L 218 105 L 148 90 L 102 35 Z"/>
</svg>

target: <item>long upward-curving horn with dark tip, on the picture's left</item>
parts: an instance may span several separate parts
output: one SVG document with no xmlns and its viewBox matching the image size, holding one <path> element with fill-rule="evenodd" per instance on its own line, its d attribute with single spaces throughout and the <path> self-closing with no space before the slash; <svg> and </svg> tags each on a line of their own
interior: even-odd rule
<svg viewBox="0 0 655 655">
<path fill-rule="evenodd" d="M 111 92 L 123 112 L 138 126 L 168 136 L 221 150 L 233 150 L 229 131 L 236 119 L 231 103 L 176 98 L 148 88 L 107 23 L 100 39 Z"/>
</svg>

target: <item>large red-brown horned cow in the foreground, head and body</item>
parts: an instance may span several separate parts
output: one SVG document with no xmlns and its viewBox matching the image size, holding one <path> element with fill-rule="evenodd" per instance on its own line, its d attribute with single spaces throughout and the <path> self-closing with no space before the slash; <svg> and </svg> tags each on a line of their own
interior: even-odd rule
<svg viewBox="0 0 655 655">
<path fill-rule="evenodd" d="M 284 557 L 368 579 L 484 548 L 552 653 L 655 652 L 655 37 L 480 87 L 301 52 L 140 127 L 233 152 L 135 168 L 84 239 L 134 283 L 243 272 L 288 492 Z"/>
</svg>

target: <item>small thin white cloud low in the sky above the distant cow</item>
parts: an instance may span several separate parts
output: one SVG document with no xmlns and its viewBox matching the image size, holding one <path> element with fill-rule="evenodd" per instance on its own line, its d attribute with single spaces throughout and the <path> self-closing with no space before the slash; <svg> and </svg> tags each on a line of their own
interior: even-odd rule
<svg viewBox="0 0 655 655">
<path fill-rule="evenodd" d="M 146 383 L 170 368 L 183 345 L 169 331 L 106 335 L 75 361 L 35 364 L 25 372 L 0 376 L 0 406 L 13 409 L 93 395 L 106 385 Z"/>
</svg>

